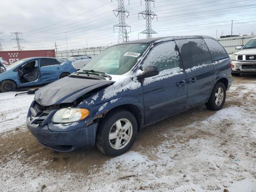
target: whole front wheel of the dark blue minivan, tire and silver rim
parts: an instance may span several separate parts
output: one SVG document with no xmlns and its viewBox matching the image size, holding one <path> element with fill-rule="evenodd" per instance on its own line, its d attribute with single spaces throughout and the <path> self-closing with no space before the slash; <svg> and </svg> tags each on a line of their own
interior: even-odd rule
<svg viewBox="0 0 256 192">
<path fill-rule="evenodd" d="M 97 135 L 97 148 L 109 156 L 118 156 L 128 151 L 137 136 L 138 124 L 128 110 L 110 111 L 100 121 Z"/>
</svg>

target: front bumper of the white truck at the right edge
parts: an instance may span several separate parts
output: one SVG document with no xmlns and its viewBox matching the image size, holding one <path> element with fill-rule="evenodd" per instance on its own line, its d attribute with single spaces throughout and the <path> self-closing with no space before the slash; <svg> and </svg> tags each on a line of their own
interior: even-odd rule
<svg viewBox="0 0 256 192">
<path fill-rule="evenodd" d="M 256 73 L 256 61 L 232 61 L 234 73 Z"/>
</svg>

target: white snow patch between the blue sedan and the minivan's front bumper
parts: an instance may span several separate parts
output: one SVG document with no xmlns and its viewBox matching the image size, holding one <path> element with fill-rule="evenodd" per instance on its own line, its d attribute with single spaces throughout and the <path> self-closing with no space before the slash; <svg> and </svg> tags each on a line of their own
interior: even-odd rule
<svg viewBox="0 0 256 192">
<path fill-rule="evenodd" d="M 34 94 L 20 95 L 20 92 L 0 93 L 0 133 L 26 126 L 28 108 Z"/>
</svg>

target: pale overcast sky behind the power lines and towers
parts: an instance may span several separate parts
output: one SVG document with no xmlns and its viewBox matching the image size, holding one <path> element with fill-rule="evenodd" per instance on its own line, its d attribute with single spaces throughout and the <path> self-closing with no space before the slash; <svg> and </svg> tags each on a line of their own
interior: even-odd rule
<svg viewBox="0 0 256 192">
<path fill-rule="evenodd" d="M 137 40 L 138 33 L 146 29 L 146 21 L 138 12 L 145 10 L 140 0 L 124 0 L 130 12 L 126 23 L 131 26 L 129 40 Z M 0 32 L 4 32 L 4 50 L 16 50 L 10 32 L 22 32 L 23 50 L 54 48 L 68 49 L 106 46 L 118 41 L 118 18 L 112 10 L 118 7 L 113 0 L 2 0 L 0 6 Z M 207 35 L 216 38 L 222 33 L 256 34 L 255 0 L 155 0 L 152 11 L 158 20 L 152 20 L 153 37 L 177 35 Z M 130 30 L 128 30 L 130 32 Z M 66 32 L 66 35 L 65 35 Z M 146 38 L 139 34 L 139 38 Z"/>
</svg>

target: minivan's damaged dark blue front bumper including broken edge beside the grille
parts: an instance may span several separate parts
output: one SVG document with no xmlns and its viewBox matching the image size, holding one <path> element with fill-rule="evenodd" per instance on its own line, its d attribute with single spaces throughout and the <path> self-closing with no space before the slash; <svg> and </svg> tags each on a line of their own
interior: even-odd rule
<svg viewBox="0 0 256 192">
<path fill-rule="evenodd" d="M 97 126 L 98 123 L 86 126 L 84 120 L 69 124 L 55 124 L 51 122 L 50 115 L 47 117 L 46 123 L 40 125 L 33 123 L 30 111 L 27 116 L 28 130 L 36 140 L 43 146 L 58 152 L 93 147 Z"/>
</svg>

